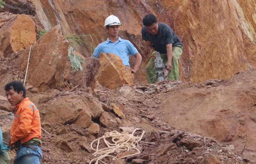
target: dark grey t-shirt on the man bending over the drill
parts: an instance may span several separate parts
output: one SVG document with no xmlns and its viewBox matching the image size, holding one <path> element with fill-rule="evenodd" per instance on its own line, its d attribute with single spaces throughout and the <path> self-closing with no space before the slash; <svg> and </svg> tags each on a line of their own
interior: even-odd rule
<svg viewBox="0 0 256 164">
<path fill-rule="evenodd" d="M 167 44 L 172 44 L 172 47 L 178 45 L 182 46 L 180 38 L 173 32 L 170 26 L 166 25 L 165 23 L 158 23 L 158 26 L 159 29 L 156 35 L 150 34 L 146 26 L 143 26 L 141 30 L 142 40 L 151 41 L 155 50 L 160 54 L 167 53 Z"/>
</svg>

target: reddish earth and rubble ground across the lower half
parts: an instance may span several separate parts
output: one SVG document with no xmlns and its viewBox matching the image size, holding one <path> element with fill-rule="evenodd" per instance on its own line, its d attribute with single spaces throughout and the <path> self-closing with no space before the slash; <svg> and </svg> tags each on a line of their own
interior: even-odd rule
<svg viewBox="0 0 256 164">
<path fill-rule="evenodd" d="M 123 86 L 117 90 L 97 85 L 94 96 L 110 109 L 105 109 L 104 121 L 92 120 L 100 125 L 99 133 L 75 124 L 46 122 L 46 117 L 51 114 L 44 107 L 50 101 L 38 104 L 42 95 L 51 99 L 57 94 L 79 96 L 88 93 L 79 89 L 28 92 L 28 97 L 40 109 L 42 127 L 50 133 L 42 133 L 44 158 L 41 163 L 90 163 L 96 158 L 90 147 L 92 141 L 106 132 L 121 132 L 122 127 L 141 129 L 136 135 L 142 130 L 146 133 L 137 146 L 140 154 L 119 160 L 119 163 L 255 163 L 255 75 L 256 70 L 252 69 L 237 73 L 227 81 L 208 80 L 200 84 L 165 81 L 154 85 Z M 1 96 L 4 97 L 3 91 Z M 6 100 L 1 102 L 6 104 Z M 113 112 L 112 102 L 123 108 L 125 118 Z M 3 104 L 0 117 L 7 141 L 6 127 L 10 126 L 13 116 L 6 112 L 9 107 Z M 104 147 L 102 141 L 100 147 Z M 134 151 L 112 155 L 122 157 L 131 153 Z M 13 159 L 15 152 L 11 151 L 10 156 Z M 109 157 L 103 161 L 116 163 Z"/>
</svg>

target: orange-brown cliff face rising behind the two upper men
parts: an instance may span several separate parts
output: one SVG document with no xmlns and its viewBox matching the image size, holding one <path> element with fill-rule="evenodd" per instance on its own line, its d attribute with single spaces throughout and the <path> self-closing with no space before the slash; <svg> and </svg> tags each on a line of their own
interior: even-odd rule
<svg viewBox="0 0 256 164">
<path fill-rule="evenodd" d="M 180 79 L 192 82 L 228 79 L 238 71 L 256 67 L 256 13 L 252 0 L 211 3 L 204 0 L 82 0 L 72 5 L 68 0 L 26 0 L 26 5 L 23 0 L 6 2 L 10 7 L 6 5 L 2 11 L 11 11 L 12 6 L 26 14 L 34 15 L 36 11 L 37 31 L 61 25 L 63 34 L 93 34 L 93 43 L 83 45 L 84 51 L 79 52 L 85 57 L 92 54 L 92 45 L 96 47 L 107 39 L 104 20 L 110 14 L 116 15 L 123 23 L 119 36 L 131 41 L 142 55 L 138 74 L 144 81 L 149 52 L 140 30 L 142 18 L 149 13 L 155 14 L 159 22 L 170 25 L 183 43 Z M 143 82 L 143 78 L 137 78 Z"/>
</svg>

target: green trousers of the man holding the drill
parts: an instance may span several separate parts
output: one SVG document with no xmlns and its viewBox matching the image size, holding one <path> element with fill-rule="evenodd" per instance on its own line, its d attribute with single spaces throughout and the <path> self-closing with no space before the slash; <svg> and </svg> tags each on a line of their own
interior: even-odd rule
<svg viewBox="0 0 256 164">
<path fill-rule="evenodd" d="M 179 62 L 178 59 L 183 52 L 182 46 L 172 47 L 172 71 L 168 76 L 168 80 L 177 80 L 179 77 Z M 167 54 L 160 54 L 161 58 L 164 61 L 164 64 L 167 63 Z M 155 59 L 151 58 L 146 66 L 146 74 L 148 84 L 153 84 L 157 82 L 156 71 L 154 70 Z"/>
</svg>

